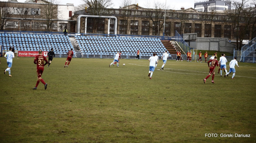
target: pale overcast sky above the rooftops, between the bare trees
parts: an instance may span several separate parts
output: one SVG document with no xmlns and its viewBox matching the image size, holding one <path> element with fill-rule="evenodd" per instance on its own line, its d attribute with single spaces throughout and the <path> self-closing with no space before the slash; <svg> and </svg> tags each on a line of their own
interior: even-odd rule
<svg viewBox="0 0 256 143">
<path fill-rule="evenodd" d="M 6 1 L 6 0 L 1 0 L 1 1 Z M 18 0 L 18 2 L 25 2 L 26 0 Z M 74 4 L 75 6 L 82 4 L 82 0 L 59 0 L 61 4 Z M 145 4 L 148 2 L 148 0 L 132 0 L 135 1 L 134 4 L 139 4 L 141 7 L 146 7 Z M 157 0 L 155 0 L 157 1 Z M 197 0 L 200 1 L 200 0 Z M 119 8 L 119 6 L 122 4 L 122 0 L 112 0 L 114 3 L 113 8 Z M 151 3 L 154 3 L 154 0 L 150 0 Z M 158 0 L 160 3 L 165 4 L 165 0 Z M 170 5 L 170 8 L 173 8 L 175 10 L 179 10 L 180 7 L 185 7 L 186 8 L 194 8 L 194 0 L 178 0 L 178 2 L 174 0 L 166 0 L 166 5 Z"/>
</svg>

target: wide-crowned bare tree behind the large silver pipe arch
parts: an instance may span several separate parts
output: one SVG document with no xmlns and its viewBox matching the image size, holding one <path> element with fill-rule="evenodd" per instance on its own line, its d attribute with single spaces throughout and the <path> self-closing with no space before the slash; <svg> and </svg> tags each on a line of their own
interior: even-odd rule
<svg viewBox="0 0 256 143">
<path fill-rule="evenodd" d="M 84 2 L 84 7 L 87 6 L 88 13 L 91 15 L 104 15 L 107 13 L 106 9 L 110 7 L 113 3 L 112 0 L 82 0 Z M 97 29 L 99 27 L 98 25 L 98 18 L 92 18 L 93 19 L 93 33 L 97 33 Z"/>
</svg>

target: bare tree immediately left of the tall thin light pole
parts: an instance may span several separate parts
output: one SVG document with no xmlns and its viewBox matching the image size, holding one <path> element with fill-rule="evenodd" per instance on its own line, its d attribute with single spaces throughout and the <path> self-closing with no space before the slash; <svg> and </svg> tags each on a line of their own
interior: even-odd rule
<svg viewBox="0 0 256 143">
<path fill-rule="evenodd" d="M 148 1 L 146 16 L 148 16 L 153 23 L 152 25 L 149 24 L 148 26 L 155 31 L 155 35 L 158 35 L 159 30 L 164 27 L 164 8 L 165 8 L 165 4 L 159 3 L 158 1 L 156 1 L 153 4 L 153 9 L 151 9 L 151 3 L 150 1 Z M 169 9 L 169 6 L 167 6 L 166 9 Z M 166 17 L 168 17 L 168 15 L 166 15 Z"/>
</svg>

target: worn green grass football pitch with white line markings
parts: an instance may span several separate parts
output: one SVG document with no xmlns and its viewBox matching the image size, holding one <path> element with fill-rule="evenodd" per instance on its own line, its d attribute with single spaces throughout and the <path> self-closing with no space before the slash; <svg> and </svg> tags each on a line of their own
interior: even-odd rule
<svg viewBox="0 0 256 143">
<path fill-rule="evenodd" d="M 256 65 L 238 63 L 236 79 L 206 80 L 207 63 L 54 58 L 37 90 L 34 58 L 0 64 L 1 143 L 255 142 Z M 123 66 L 125 63 L 125 66 Z M 227 65 L 229 62 L 227 63 Z M 216 69 L 217 70 L 217 69 Z M 229 68 L 228 68 L 229 70 Z M 216 133 L 218 137 L 205 137 Z M 234 134 L 234 137 L 220 137 Z M 250 137 L 235 137 L 250 134 Z"/>
</svg>

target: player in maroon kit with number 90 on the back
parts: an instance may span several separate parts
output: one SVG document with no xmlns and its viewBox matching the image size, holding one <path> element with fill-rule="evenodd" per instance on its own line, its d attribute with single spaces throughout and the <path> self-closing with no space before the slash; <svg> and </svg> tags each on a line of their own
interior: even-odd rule
<svg viewBox="0 0 256 143">
<path fill-rule="evenodd" d="M 45 61 L 45 64 L 44 64 L 44 61 Z M 33 89 L 37 89 L 39 82 L 42 82 L 44 84 L 44 89 L 47 89 L 47 83 L 45 83 L 44 80 L 41 78 L 44 72 L 44 66 L 48 64 L 46 57 L 42 55 L 42 50 L 38 51 L 38 55 L 36 55 L 34 59 L 34 63 L 36 64 L 36 73 L 37 73 L 38 79 L 36 82 L 36 86 Z"/>
</svg>

